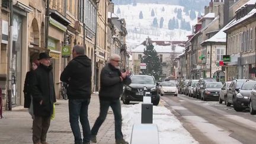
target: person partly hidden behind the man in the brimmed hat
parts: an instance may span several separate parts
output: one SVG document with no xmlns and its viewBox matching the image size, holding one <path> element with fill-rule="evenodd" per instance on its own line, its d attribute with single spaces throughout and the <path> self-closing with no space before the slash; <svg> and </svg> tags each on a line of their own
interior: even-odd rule
<svg viewBox="0 0 256 144">
<path fill-rule="evenodd" d="M 30 113 L 32 119 L 34 119 L 34 113 L 33 113 L 33 98 L 31 95 L 31 79 L 32 79 L 32 73 L 37 69 L 37 67 L 40 65 L 39 60 L 35 59 L 31 63 L 31 70 L 27 72 L 25 76 L 25 82 L 24 82 L 24 108 L 28 108 L 28 113 Z"/>
</svg>

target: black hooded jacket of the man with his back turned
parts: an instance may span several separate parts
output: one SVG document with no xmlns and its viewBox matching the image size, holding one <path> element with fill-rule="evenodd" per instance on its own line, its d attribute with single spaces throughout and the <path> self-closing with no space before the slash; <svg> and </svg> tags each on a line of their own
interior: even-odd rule
<svg viewBox="0 0 256 144">
<path fill-rule="evenodd" d="M 68 63 L 60 75 L 60 81 L 68 83 L 68 98 L 91 98 L 91 59 L 77 56 Z"/>
</svg>

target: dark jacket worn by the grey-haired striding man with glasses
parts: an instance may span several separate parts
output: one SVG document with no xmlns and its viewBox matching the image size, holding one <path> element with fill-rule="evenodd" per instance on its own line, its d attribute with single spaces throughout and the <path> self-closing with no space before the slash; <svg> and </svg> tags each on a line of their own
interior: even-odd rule
<svg viewBox="0 0 256 144">
<path fill-rule="evenodd" d="M 129 85 L 131 83 L 129 76 L 126 76 L 123 81 L 121 81 L 120 76 L 120 70 L 110 63 L 102 69 L 100 75 L 100 100 L 111 101 L 120 98 L 120 95 L 123 94 L 124 84 Z"/>
</svg>

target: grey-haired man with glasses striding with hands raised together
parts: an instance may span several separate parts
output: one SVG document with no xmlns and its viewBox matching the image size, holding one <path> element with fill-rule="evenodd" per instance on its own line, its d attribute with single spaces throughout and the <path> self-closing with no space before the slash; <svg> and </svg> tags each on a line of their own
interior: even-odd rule
<svg viewBox="0 0 256 144">
<path fill-rule="evenodd" d="M 120 95 L 123 93 L 123 85 L 129 85 L 131 79 L 127 76 L 127 72 L 120 71 L 120 56 L 112 55 L 109 59 L 108 65 L 106 65 L 100 75 L 100 116 L 94 123 L 91 130 L 91 142 L 97 143 L 96 135 L 107 117 L 108 108 L 111 107 L 114 113 L 115 121 L 115 138 L 116 144 L 127 144 L 123 139 L 123 133 L 121 132 L 121 103 Z"/>
</svg>

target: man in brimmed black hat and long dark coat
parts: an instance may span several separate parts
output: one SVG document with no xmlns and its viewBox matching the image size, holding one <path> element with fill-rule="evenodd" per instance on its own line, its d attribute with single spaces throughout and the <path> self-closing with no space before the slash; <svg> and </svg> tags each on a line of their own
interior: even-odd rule
<svg viewBox="0 0 256 144">
<path fill-rule="evenodd" d="M 53 103 L 56 102 L 52 65 L 48 53 L 39 54 L 39 67 L 33 71 L 31 95 L 33 97 L 33 142 L 47 144 L 46 135 L 53 114 Z"/>
</svg>

